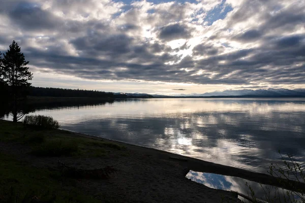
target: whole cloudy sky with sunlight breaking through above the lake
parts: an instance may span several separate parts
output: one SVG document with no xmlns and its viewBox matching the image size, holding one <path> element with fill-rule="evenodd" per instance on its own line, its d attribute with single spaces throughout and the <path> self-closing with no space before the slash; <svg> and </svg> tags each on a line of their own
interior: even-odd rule
<svg viewBox="0 0 305 203">
<path fill-rule="evenodd" d="M 303 0 L 2 0 L 33 86 L 190 94 L 305 87 Z"/>
</svg>

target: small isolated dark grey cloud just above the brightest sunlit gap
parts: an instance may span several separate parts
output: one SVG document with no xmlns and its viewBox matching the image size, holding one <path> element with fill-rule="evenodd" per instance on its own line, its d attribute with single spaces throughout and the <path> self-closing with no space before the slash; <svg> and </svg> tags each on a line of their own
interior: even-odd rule
<svg viewBox="0 0 305 203">
<path fill-rule="evenodd" d="M 159 38 L 167 41 L 188 39 L 190 37 L 190 29 L 186 25 L 181 25 L 179 23 L 161 27 L 159 32 Z"/>
</svg>

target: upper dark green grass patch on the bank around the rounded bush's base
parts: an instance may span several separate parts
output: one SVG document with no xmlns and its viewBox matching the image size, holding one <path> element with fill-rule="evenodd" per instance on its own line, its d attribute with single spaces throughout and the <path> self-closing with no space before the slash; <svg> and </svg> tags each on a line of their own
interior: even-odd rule
<svg viewBox="0 0 305 203">
<path fill-rule="evenodd" d="M 31 146 L 37 156 L 103 157 L 124 146 L 103 140 L 75 136 L 57 129 L 24 128 L 22 123 L 0 120 L 0 142 L 18 142 Z"/>
</svg>

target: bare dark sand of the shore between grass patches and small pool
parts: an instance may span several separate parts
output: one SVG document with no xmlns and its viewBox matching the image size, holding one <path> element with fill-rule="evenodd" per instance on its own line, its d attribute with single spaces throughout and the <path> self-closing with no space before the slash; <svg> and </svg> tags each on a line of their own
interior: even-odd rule
<svg viewBox="0 0 305 203">
<path fill-rule="evenodd" d="M 278 183 L 271 176 L 240 168 L 76 132 L 58 132 L 67 132 L 69 137 L 104 140 L 125 146 L 126 149 L 120 151 L 120 154 L 111 153 L 106 157 L 77 158 L 37 157 L 29 153 L 29 147 L 18 143 L 0 142 L 0 148 L 35 167 L 56 168 L 58 160 L 86 170 L 113 166 L 117 172 L 108 180 L 79 179 L 73 186 L 87 195 L 101 199 L 101 202 L 104 199 L 110 199 L 111 202 L 223 202 L 223 198 L 226 199 L 224 202 L 239 202 L 236 193 L 212 189 L 187 179 L 185 175 L 189 170 L 235 176 L 262 184 Z"/>
</svg>

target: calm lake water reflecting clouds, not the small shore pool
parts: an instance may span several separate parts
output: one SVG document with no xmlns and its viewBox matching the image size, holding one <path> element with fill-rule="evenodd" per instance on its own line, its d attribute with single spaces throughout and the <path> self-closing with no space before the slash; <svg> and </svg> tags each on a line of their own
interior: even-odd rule
<svg viewBox="0 0 305 203">
<path fill-rule="evenodd" d="M 305 163 L 305 100 L 153 98 L 36 110 L 62 129 L 266 173 L 278 153 Z"/>
</svg>

